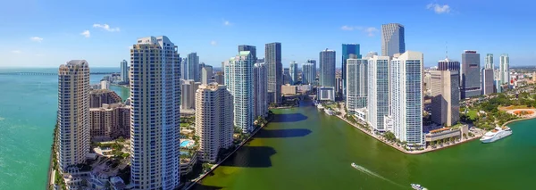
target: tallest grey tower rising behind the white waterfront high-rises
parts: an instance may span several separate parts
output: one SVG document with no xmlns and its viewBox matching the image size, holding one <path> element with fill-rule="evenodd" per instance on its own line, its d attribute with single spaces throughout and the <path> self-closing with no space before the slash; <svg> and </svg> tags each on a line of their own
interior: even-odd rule
<svg viewBox="0 0 536 190">
<path fill-rule="evenodd" d="M 398 23 L 381 25 L 381 55 L 393 56 L 405 52 L 404 26 Z"/>
</svg>

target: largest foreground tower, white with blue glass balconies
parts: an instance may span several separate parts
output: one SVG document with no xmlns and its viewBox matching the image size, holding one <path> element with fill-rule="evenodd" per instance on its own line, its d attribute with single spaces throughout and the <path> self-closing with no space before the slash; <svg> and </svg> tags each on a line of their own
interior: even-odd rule
<svg viewBox="0 0 536 190">
<path fill-rule="evenodd" d="M 178 188 L 180 57 L 177 46 L 165 36 L 141 37 L 130 54 L 130 184 L 134 189 Z M 197 56 L 189 57 L 197 59 L 194 58 Z"/>
</svg>

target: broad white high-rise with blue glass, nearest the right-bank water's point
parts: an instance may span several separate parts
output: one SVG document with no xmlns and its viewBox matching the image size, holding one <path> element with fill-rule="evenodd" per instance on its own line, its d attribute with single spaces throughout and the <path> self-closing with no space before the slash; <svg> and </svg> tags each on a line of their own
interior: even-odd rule
<svg viewBox="0 0 536 190">
<path fill-rule="evenodd" d="M 390 61 L 393 133 L 408 146 L 423 141 L 423 54 L 407 51 Z"/>
</svg>

